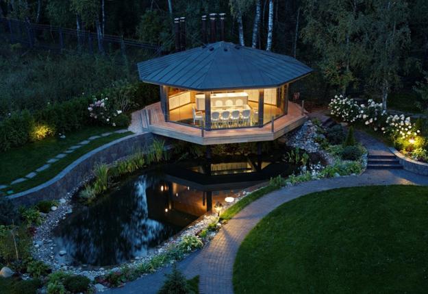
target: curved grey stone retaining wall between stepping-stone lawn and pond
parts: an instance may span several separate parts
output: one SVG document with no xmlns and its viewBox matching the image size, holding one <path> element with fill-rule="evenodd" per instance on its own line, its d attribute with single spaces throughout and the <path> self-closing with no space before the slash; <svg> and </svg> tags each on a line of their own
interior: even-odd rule
<svg viewBox="0 0 428 294">
<path fill-rule="evenodd" d="M 86 180 L 92 173 L 95 164 L 109 164 L 132 154 L 138 149 L 144 151 L 147 146 L 151 145 L 152 141 L 153 135 L 151 133 L 132 134 L 119 138 L 81 156 L 51 180 L 27 191 L 6 197 L 18 206 L 34 205 L 41 200 L 60 199 Z"/>
</svg>

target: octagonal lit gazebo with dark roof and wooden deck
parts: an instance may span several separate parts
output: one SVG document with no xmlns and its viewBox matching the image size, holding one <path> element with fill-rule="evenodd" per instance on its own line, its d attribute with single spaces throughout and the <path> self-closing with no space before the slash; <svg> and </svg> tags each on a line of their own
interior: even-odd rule
<svg viewBox="0 0 428 294">
<path fill-rule="evenodd" d="M 289 86 L 311 72 L 290 56 L 224 41 L 140 62 L 142 82 L 160 86 L 142 124 L 201 145 L 275 140 L 307 119 Z"/>
</svg>

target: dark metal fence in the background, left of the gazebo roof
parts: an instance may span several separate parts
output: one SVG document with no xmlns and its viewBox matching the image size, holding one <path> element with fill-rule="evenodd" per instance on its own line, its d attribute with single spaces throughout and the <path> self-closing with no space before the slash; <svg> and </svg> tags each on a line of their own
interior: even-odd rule
<svg viewBox="0 0 428 294">
<path fill-rule="evenodd" d="M 8 36 L 11 44 L 20 43 L 30 48 L 48 49 L 51 51 L 78 50 L 89 53 L 121 52 L 122 56 L 160 56 L 162 46 L 123 38 L 88 32 L 86 30 L 54 27 L 27 23 L 16 19 L 0 18 L 0 32 Z"/>
</svg>

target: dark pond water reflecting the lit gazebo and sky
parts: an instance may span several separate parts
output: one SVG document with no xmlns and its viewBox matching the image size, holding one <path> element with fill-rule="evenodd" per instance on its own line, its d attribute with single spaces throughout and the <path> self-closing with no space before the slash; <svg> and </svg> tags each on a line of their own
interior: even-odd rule
<svg viewBox="0 0 428 294">
<path fill-rule="evenodd" d="M 55 229 L 58 252 L 73 265 L 107 266 L 146 256 L 216 201 L 240 189 L 290 175 L 297 167 L 275 158 L 181 162 L 142 171 L 91 206 L 76 204 Z"/>
</svg>

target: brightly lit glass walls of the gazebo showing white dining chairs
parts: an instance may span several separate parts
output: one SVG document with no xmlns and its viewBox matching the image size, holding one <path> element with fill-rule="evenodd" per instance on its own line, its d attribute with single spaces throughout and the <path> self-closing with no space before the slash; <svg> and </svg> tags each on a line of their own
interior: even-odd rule
<svg viewBox="0 0 428 294">
<path fill-rule="evenodd" d="M 168 87 L 168 118 L 170 121 L 212 129 L 257 127 L 269 123 L 284 112 L 284 88 L 212 91 L 210 112 L 205 110 L 205 93 Z M 261 104 L 261 97 L 263 103 Z M 262 112 L 262 120 L 260 116 Z"/>
</svg>

